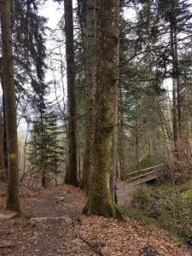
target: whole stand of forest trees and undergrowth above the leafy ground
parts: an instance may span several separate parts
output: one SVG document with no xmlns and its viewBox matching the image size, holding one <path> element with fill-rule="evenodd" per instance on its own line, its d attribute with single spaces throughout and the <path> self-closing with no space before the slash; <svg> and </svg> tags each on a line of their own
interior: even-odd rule
<svg viewBox="0 0 192 256">
<path fill-rule="evenodd" d="M 21 212 L 22 186 L 65 183 L 84 191 L 88 216 L 148 221 L 154 207 L 164 228 L 192 236 L 180 226 L 192 216 L 192 2 L 54 3 L 56 29 L 39 15 L 46 1 L 0 3 L 6 209 Z M 157 187 L 140 185 L 132 207 L 117 205 L 116 180 L 154 166 Z"/>
</svg>

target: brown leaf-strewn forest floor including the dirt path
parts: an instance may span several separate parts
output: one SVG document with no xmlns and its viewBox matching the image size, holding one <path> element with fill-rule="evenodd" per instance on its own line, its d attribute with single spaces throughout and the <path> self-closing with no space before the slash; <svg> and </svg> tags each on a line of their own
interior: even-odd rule
<svg viewBox="0 0 192 256">
<path fill-rule="evenodd" d="M 86 217 L 85 197 L 66 184 L 53 189 L 20 188 L 22 212 L 0 218 L 0 256 L 189 256 L 192 249 L 173 241 L 165 230 L 127 218 Z M 6 183 L 0 183 L 0 212 Z"/>
</svg>

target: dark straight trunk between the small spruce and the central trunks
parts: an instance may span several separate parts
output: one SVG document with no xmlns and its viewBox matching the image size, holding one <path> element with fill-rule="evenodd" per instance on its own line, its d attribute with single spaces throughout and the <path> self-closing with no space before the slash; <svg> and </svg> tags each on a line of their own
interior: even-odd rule
<svg viewBox="0 0 192 256">
<path fill-rule="evenodd" d="M 73 1 L 64 1 L 67 60 L 68 158 L 65 183 L 78 186 L 77 170 L 77 104 L 74 72 Z"/>
</svg>

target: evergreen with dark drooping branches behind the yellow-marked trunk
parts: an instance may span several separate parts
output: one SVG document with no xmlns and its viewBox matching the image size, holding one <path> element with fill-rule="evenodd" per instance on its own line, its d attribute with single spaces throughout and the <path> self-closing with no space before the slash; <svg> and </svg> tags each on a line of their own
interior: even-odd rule
<svg viewBox="0 0 192 256">
<path fill-rule="evenodd" d="M 30 119 L 37 94 L 33 84 L 44 76 L 45 39 L 44 30 L 46 19 L 38 15 L 38 1 L 11 2 L 11 20 L 13 31 L 13 60 L 15 67 L 15 96 L 18 123 L 21 118 Z M 1 71 L 2 73 L 2 71 Z M 35 82 L 34 82 L 35 81 Z M 29 84 L 32 84 L 30 87 Z M 3 86 L 3 81 L 2 81 Z M 3 154 L 4 167 L 7 168 L 6 157 L 6 119 L 4 111 L 3 86 Z"/>
</svg>

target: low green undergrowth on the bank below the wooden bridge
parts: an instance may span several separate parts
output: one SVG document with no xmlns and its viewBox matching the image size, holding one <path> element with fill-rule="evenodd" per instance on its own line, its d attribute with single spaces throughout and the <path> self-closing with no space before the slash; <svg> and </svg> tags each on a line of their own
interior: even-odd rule
<svg viewBox="0 0 192 256">
<path fill-rule="evenodd" d="M 192 179 L 182 184 L 138 185 L 132 192 L 125 216 L 153 229 L 166 229 L 171 236 L 192 238 Z"/>
</svg>

